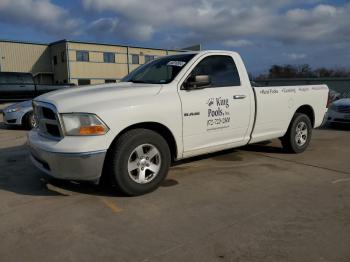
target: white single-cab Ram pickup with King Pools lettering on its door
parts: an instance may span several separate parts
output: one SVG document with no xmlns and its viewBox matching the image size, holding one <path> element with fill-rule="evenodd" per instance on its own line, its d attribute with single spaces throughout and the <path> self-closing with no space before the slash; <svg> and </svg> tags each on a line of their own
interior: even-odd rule
<svg viewBox="0 0 350 262">
<path fill-rule="evenodd" d="M 252 87 L 235 52 L 180 53 L 117 84 L 39 96 L 28 144 L 33 163 L 53 177 L 106 176 L 140 195 L 156 189 L 179 159 L 273 138 L 303 152 L 327 99 L 326 85 Z"/>
</svg>

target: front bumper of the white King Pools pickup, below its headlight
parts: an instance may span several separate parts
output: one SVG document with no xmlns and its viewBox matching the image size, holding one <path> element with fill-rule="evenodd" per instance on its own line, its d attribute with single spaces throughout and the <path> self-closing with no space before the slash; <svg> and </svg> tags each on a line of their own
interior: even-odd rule
<svg viewBox="0 0 350 262">
<path fill-rule="evenodd" d="M 32 163 L 46 174 L 68 180 L 96 181 L 101 177 L 106 150 L 62 153 L 40 147 L 39 135 L 28 135 Z M 45 139 L 45 138 L 42 138 Z"/>
</svg>

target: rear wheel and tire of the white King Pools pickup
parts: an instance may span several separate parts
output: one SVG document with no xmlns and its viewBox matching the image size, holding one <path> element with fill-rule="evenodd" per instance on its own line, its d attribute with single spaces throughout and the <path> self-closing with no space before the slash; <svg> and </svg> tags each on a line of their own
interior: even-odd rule
<svg viewBox="0 0 350 262">
<path fill-rule="evenodd" d="M 287 133 L 282 137 L 283 148 L 289 153 L 302 153 L 308 147 L 312 135 L 310 118 L 296 113 L 289 125 Z"/>
</svg>

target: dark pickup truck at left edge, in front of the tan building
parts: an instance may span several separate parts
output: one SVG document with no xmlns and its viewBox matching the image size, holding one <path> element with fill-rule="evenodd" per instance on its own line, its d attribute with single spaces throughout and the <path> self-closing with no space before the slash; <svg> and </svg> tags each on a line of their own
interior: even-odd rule
<svg viewBox="0 0 350 262">
<path fill-rule="evenodd" d="M 71 86 L 72 84 L 35 84 L 32 74 L 0 72 L 0 101 L 33 99 L 44 93 Z"/>
</svg>

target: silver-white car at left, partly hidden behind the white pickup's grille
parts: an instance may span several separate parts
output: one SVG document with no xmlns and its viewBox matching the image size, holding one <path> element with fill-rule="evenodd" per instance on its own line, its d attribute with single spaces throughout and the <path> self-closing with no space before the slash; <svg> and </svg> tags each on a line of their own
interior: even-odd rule
<svg viewBox="0 0 350 262">
<path fill-rule="evenodd" d="M 32 100 L 10 105 L 2 111 L 2 114 L 4 123 L 8 126 L 22 126 L 27 129 L 37 126 Z"/>
</svg>

